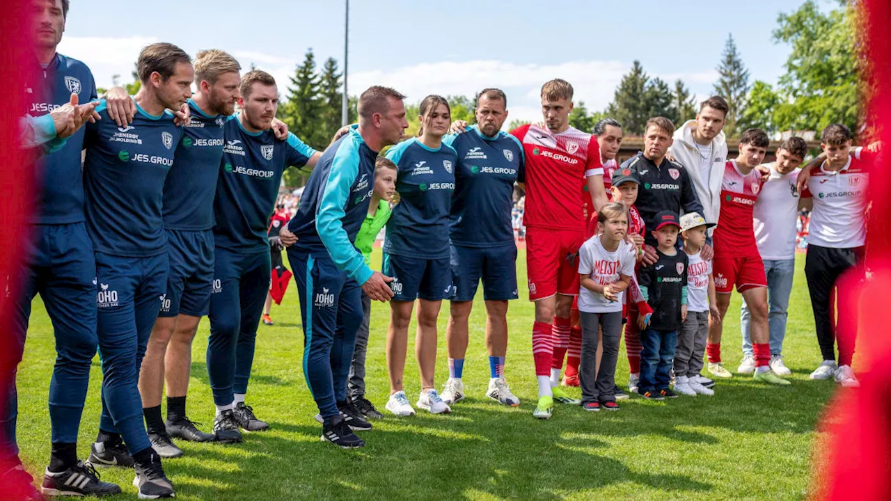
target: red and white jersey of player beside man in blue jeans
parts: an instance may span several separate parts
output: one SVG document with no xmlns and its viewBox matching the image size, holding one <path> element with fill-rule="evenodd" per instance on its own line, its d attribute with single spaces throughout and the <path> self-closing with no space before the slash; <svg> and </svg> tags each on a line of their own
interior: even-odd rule
<svg viewBox="0 0 891 501">
<path fill-rule="evenodd" d="M 743 175 L 736 160 L 724 164 L 721 213 L 715 227 L 715 257 L 760 258 L 755 240 L 755 201 L 761 192 L 761 173 L 753 168 Z"/>
</svg>

